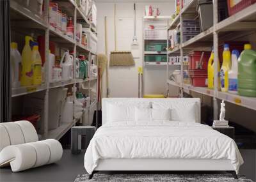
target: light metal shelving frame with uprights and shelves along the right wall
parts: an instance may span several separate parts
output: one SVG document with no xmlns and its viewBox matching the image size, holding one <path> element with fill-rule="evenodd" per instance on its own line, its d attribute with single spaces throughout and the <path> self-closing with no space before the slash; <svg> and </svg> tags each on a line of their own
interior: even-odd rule
<svg viewBox="0 0 256 182">
<path fill-rule="evenodd" d="M 174 29 L 177 24 L 181 24 L 182 27 L 182 18 L 186 15 L 194 14 L 196 15 L 196 4 L 198 0 L 191 0 L 182 10 L 179 15 L 175 17 L 170 23 L 168 29 Z M 218 55 L 218 43 L 223 41 L 236 40 L 237 37 L 243 37 L 248 34 L 252 34 L 252 31 L 256 31 L 256 3 L 248 6 L 244 10 L 239 11 L 238 13 L 228 17 L 221 22 L 218 22 L 218 1 L 213 1 L 213 26 L 207 29 L 206 31 L 196 35 L 194 38 L 191 38 L 187 42 L 182 43 L 182 29 L 180 30 L 180 42 L 181 45 L 175 47 L 175 49 L 168 51 L 168 55 L 179 53 L 181 56 L 181 63 L 183 63 L 183 56 L 188 50 L 202 50 L 210 49 L 214 46 L 214 55 Z M 243 31 L 243 34 L 240 32 Z M 217 69 L 218 56 L 214 57 L 214 70 Z M 256 98 L 250 98 L 245 96 L 239 96 L 232 93 L 225 93 L 219 90 L 218 86 L 218 72 L 214 72 L 214 89 L 208 89 L 207 87 L 194 87 L 188 84 L 184 84 L 183 80 L 180 84 L 169 80 L 168 66 L 166 66 L 167 72 L 167 88 L 169 85 L 180 87 L 180 96 L 183 95 L 183 92 L 191 93 L 194 91 L 202 95 L 211 96 L 214 106 L 214 119 L 218 118 L 218 105 L 217 100 L 225 100 L 248 109 L 256 110 Z M 183 72 L 183 66 L 181 66 L 181 72 Z M 183 74 L 182 74 L 183 75 Z M 167 93 L 168 93 L 167 89 Z"/>
</svg>

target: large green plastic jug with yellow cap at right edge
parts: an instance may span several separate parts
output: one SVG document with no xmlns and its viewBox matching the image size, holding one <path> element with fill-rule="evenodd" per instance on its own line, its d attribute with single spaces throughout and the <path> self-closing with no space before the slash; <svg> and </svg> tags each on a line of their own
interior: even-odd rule
<svg viewBox="0 0 256 182">
<path fill-rule="evenodd" d="M 250 44 L 244 45 L 244 50 L 238 59 L 238 94 L 256 97 L 256 51 Z"/>
</svg>

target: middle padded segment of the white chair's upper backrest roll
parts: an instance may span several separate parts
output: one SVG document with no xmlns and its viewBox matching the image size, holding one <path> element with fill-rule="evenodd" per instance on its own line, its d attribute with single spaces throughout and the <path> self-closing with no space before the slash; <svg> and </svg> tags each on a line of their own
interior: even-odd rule
<svg viewBox="0 0 256 182">
<path fill-rule="evenodd" d="M 16 121 L 24 135 L 25 143 L 38 141 L 35 127 L 29 121 Z"/>
</svg>

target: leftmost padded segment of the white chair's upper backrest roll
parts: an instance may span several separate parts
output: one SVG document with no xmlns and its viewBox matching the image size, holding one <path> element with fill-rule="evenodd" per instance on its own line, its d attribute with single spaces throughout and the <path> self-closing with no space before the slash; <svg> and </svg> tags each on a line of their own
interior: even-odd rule
<svg viewBox="0 0 256 182">
<path fill-rule="evenodd" d="M 1 123 L 9 134 L 11 145 L 24 144 L 24 136 L 20 126 L 15 122 Z"/>
</svg>

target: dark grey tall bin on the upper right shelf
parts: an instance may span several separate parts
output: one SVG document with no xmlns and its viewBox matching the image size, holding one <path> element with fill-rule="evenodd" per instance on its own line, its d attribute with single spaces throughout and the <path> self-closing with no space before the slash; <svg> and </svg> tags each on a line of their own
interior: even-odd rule
<svg viewBox="0 0 256 182">
<path fill-rule="evenodd" d="M 205 31 L 213 26 L 213 8 L 212 0 L 199 0 L 197 11 L 200 20 L 200 29 Z"/>
</svg>

